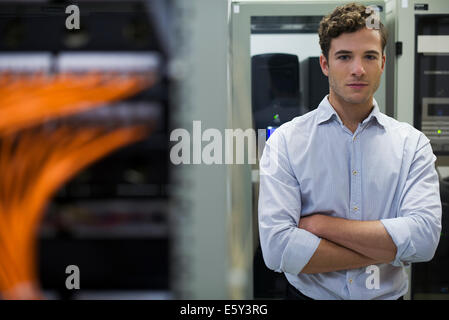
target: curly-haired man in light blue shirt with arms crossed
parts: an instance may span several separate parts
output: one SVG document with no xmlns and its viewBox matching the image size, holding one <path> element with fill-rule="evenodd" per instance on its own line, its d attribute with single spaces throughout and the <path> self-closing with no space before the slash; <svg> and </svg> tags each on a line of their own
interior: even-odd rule
<svg viewBox="0 0 449 320">
<path fill-rule="evenodd" d="M 290 298 L 400 299 L 405 266 L 439 242 L 436 157 L 421 132 L 379 111 L 386 31 L 368 16 L 349 4 L 323 18 L 329 95 L 279 127 L 261 158 L 262 252 Z"/>
</svg>

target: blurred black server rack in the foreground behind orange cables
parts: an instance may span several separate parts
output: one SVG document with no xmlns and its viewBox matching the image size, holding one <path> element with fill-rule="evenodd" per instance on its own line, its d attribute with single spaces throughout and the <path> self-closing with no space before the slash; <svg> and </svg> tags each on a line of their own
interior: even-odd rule
<svg viewBox="0 0 449 320">
<path fill-rule="evenodd" d="M 151 69 L 157 81 L 148 89 L 68 121 L 113 125 L 149 117 L 155 129 L 88 166 L 52 197 L 38 232 L 40 283 L 47 298 L 170 298 L 169 52 L 160 19 L 166 12 L 159 1 L 83 1 L 81 27 L 70 30 L 68 5 L 1 2 L 0 67 L 124 76 Z M 79 290 L 66 286 L 69 265 L 79 267 Z"/>
</svg>

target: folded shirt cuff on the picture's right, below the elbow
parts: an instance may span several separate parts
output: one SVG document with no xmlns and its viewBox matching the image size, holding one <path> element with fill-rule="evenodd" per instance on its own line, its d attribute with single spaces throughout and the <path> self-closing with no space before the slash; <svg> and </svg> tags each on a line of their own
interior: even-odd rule
<svg viewBox="0 0 449 320">
<path fill-rule="evenodd" d="M 391 264 L 395 267 L 408 266 L 409 263 L 404 261 L 404 259 L 413 256 L 416 253 L 416 249 L 411 241 L 407 218 L 381 219 L 380 222 L 384 225 L 397 248 L 396 257 Z"/>
</svg>

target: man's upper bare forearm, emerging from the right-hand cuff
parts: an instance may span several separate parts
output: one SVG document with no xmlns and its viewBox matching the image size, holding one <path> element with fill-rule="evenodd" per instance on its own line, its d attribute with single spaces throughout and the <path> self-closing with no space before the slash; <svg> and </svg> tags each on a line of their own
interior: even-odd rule
<svg viewBox="0 0 449 320">
<path fill-rule="evenodd" d="M 299 227 L 376 261 L 388 263 L 396 256 L 396 245 L 378 220 L 357 221 L 317 214 L 301 218 Z"/>
</svg>

